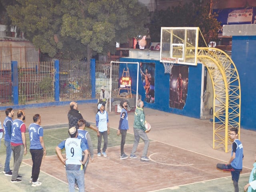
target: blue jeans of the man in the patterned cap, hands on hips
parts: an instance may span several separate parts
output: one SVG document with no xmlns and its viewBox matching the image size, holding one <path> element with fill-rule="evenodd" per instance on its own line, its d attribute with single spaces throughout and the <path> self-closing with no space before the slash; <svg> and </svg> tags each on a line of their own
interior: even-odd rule
<svg viewBox="0 0 256 192">
<path fill-rule="evenodd" d="M 79 192 L 84 192 L 84 170 L 66 170 L 68 179 L 68 191 L 75 191 L 75 179 L 77 180 Z"/>
</svg>

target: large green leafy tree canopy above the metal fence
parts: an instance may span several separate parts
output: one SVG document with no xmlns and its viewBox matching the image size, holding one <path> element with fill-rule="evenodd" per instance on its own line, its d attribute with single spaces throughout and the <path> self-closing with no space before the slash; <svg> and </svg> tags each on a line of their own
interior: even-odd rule
<svg viewBox="0 0 256 192">
<path fill-rule="evenodd" d="M 6 10 L 36 48 L 59 59 L 114 52 L 116 42 L 146 34 L 148 21 L 138 0 L 17 0 Z"/>
</svg>

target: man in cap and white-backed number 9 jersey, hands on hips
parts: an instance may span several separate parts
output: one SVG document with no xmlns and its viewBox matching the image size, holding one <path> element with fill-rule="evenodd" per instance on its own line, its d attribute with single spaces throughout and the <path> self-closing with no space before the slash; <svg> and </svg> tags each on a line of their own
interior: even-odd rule
<svg viewBox="0 0 256 192">
<path fill-rule="evenodd" d="M 79 192 L 85 191 L 84 170 L 83 165 L 88 158 L 88 149 L 81 139 L 78 139 L 78 132 L 75 127 L 68 130 L 70 138 L 62 141 L 56 146 L 56 153 L 64 164 L 66 164 L 66 175 L 68 179 L 68 191 L 73 192 L 75 188 L 75 179 L 77 180 Z M 66 158 L 61 154 L 61 150 L 65 148 Z M 82 151 L 84 152 L 84 160 L 82 161 Z"/>
</svg>

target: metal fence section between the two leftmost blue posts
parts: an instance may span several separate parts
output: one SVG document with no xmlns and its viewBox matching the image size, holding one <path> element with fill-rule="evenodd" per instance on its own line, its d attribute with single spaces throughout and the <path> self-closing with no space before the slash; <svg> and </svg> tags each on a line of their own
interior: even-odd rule
<svg viewBox="0 0 256 192">
<path fill-rule="evenodd" d="M 18 92 L 19 104 L 54 101 L 54 62 L 18 64 Z"/>
</svg>

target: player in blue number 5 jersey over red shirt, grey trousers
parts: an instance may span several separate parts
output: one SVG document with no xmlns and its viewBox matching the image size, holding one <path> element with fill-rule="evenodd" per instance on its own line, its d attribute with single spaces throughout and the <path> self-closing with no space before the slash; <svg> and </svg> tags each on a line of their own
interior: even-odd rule
<svg viewBox="0 0 256 192">
<path fill-rule="evenodd" d="M 23 154 L 27 154 L 26 145 L 26 125 L 24 124 L 25 113 L 22 110 L 18 110 L 17 119 L 12 122 L 12 136 L 11 147 L 13 152 L 14 167 L 12 171 L 12 183 L 21 182 L 22 176 L 18 175 L 20 164 L 22 162 Z"/>
</svg>

